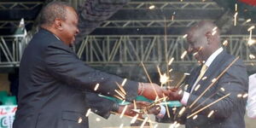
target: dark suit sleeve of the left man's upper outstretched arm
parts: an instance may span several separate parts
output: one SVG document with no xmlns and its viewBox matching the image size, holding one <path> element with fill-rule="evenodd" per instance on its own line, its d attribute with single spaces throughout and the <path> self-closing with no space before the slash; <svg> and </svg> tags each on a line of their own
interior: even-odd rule
<svg viewBox="0 0 256 128">
<path fill-rule="evenodd" d="M 79 90 L 94 91 L 96 84 L 100 84 L 96 90 L 97 93 L 113 96 L 117 95 L 114 92 L 118 89 L 116 83 L 121 84 L 124 80 L 84 65 L 84 61 L 80 61 L 70 48 L 60 43 L 47 47 L 44 63 L 52 77 Z M 127 101 L 131 102 L 136 98 L 137 84 L 137 82 L 127 80 L 124 86 Z"/>
</svg>

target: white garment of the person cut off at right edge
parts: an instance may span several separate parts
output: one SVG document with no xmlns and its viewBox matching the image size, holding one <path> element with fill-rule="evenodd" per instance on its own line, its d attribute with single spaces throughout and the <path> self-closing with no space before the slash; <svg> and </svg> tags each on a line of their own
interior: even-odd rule
<svg viewBox="0 0 256 128">
<path fill-rule="evenodd" d="M 247 115 L 250 118 L 256 119 L 256 73 L 249 77 Z"/>
</svg>

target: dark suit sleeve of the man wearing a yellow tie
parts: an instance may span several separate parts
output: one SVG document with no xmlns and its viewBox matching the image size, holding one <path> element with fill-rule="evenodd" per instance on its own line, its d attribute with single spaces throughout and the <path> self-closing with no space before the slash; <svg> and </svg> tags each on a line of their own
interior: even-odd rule
<svg viewBox="0 0 256 128">
<path fill-rule="evenodd" d="M 214 103 L 212 106 L 201 111 L 200 114 L 207 115 L 212 110 L 214 110 L 213 116 L 215 118 L 227 118 L 230 116 L 232 111 L 239 111 L 241 114 L 245 111 L 247 98 L 238 97 L 239 94 L 247 94 L 247 72 L 246 68 L 240 63 L 235 63 L 224 76 L 218 80 L 218 86 L 212 88 L 217 88 L 217 92 L 212 97 L 202 96 L 198 102 L 195 103 L 194 107 L 199 106 L 199 108 L 206 107 L 208 104 L 215 102 L 220 97 L 225 96 L 230 93 L 230 96 L 225 97 L 223 100 Z M 223 88 L 224 90 L 221 90 Z M 212 89 L 210 89 L 212 90 Z M 210 91 L 209 90 L 209 91 Z M 197 99 L 198 96 L 189 96 L 188 103 Z M 193 109 L 192 108 L 192 109 Z M 196 109 L 198 110 L 198 109 Z M 194 111 L 195 112 L 195 111 Z M 192 112 L 193 113 L 193 112 Z"/>
</svg>

